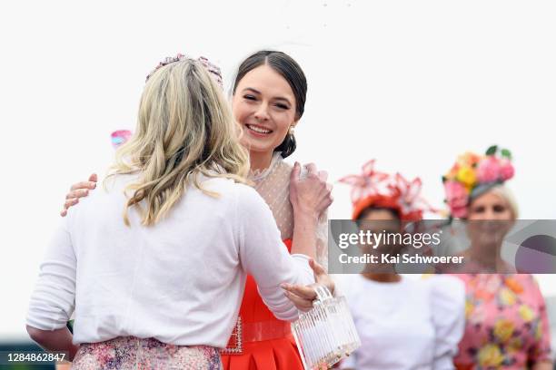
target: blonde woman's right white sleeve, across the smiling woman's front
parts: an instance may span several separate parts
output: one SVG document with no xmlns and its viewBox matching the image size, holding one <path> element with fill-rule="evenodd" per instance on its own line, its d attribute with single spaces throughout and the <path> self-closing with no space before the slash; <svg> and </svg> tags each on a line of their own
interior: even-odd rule
<svg viewBox="0 0 556 370">
<path fill-rule="evenodd" d="M 273 213 L 257 192 L 238 187 L 237 214 L 239 255 L 243 269 L 253 275 L 264 304 L 281 320 L 297 318 L 297 308 L 284 296 L 282 283 L 314 283 L 309 258 L 290 255 L 280 238 Z"/>
</svg>

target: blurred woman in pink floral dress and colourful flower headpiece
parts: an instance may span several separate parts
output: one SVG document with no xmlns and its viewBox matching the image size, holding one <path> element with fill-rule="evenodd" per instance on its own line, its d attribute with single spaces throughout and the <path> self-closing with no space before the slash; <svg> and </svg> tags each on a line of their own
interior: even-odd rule
<svg viewBox="0 0 556 370">
<path fill-rule="evenodd" d="M 452 217 L 467 220 L 471 246 L 462 253 L 467 267 L 491 272 L 454 275 L 466 287 L 465 333 L 454 358 L 458 369 L 552 369 L 541 291 L 534 277 L 516 274 L 500 253 L 518 218 L 503 185 L 513 172 L 510 151 L 491 147 L 484 156 L 460 156 L 443 178 Z"/>
</svg>

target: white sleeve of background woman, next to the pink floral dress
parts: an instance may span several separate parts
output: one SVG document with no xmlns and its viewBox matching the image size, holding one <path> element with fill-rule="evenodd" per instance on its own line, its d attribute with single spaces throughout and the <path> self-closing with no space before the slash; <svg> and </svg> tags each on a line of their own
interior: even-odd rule
<svg viewBox="0 0 556 370">
<path fill-rule="evenodd" d="M 453 369 L 465 327 L 465 286 L 457 277 L 429 277 L 432 284 L 432 322 L 435 329 L 434 370 Z"/>
</svg>

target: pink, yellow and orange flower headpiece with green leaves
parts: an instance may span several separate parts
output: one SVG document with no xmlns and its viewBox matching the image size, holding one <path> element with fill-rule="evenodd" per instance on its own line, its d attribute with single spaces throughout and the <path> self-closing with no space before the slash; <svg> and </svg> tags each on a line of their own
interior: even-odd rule
<svg viewBox="0 0 556 370">
<path fill-rule="evenodd" d="M 484 155 L 466 152 L 458 157 L 452 169 L 442 176 L 446 204 L 451 217 L 467 217 L 469 201 L 496 184 L 510 180 L 514 175 L 511 151 L 491 146 Z"/>
</svg>

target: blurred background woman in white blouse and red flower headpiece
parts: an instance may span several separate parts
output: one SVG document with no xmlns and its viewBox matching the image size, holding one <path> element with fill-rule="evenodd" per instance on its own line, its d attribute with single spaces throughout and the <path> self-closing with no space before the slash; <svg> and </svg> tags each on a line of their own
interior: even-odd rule
<svg viewBox="0 0 556 370">
<path fill-rule="evenodd" d="M 352 219 L 373 233 L 400 233 L 427 210 L 421 180 L 374 170 L 343 178 L 353 185 Z M 362 246 L 363 253 L 392 256 L 400 246 Z M 347 283 L 347 282 L 346 282 Z M 362 346 L 345 359 L 344 370 L 453 369 L 464 325 L 465 289 L 454 277 L 405 277 L 393 264 L 369 264 L 342 289 Z"/>
</svg>

